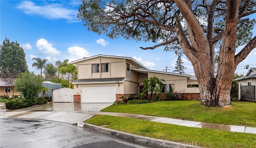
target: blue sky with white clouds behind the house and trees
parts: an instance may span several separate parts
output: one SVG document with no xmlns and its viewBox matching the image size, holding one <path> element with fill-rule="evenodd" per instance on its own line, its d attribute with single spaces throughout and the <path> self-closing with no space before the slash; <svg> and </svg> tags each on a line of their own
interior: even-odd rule
<svg viewBox="0 0 256 148">
<path fill-rule="evenodd" d="M 40 73 L 32 67 L 33 57 L 48 59 L 49 63 L 69 59 L 74 61 L 93 55 L 119 55 L 133 57 L 151 70 L 168 72 L 174 70 L 177 56 L 173 52 L 163 51 L 163 47 L 154 50 L 142 50 L 139 47 L 150 47 L 152 42 L 136 42 L 122 37 L 109 39 L 104 35 L 88 32 L 82 22 L 78 22 L 76 14 L 80 0 L 56 1 L 21 1 L 0 0 L 0 44 L 7 37 L 10 41 L 18 41 L 26 54 L 29 71 Z M 252 16 L 256 18 L 256 15 Z M 256 35 L 256 27 L 253 30 Z M 236 51 L 238 53 L 242 47 Z M 245 65 L 256 67 L 256 49 L 242 61 L 236 73 L 247 73 Z M 194 74 L 194 69 L 182 57 L 185 73 Z"/>
</svg>

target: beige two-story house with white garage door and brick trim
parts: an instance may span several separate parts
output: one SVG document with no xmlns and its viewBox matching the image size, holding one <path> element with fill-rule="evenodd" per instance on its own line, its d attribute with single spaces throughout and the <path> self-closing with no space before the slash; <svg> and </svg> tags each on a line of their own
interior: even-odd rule
<svg viewBox="0 0 256 148">
<path fill-rule="evenodd" d="M 186 100 L 200 100 L 195 76 L 149 70 L 131 57 L 95 55 L 72 61 L 78 67 L 74 84 L 74 102 L 113 103 L 124 94 L 141 92 L 146 77 L 164 79 L 163 94 L 170 87 Z"/>
</svg>

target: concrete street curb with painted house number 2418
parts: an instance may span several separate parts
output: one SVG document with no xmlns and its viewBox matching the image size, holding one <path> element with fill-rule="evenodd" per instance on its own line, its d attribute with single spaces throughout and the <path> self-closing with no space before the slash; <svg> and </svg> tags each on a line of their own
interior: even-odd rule
<svg viewBox="0 0 256 148">
<path fill-rule="evenodd" d="M 193 143 L 185 143 L 185 142 L 178 143 L 178 142 L 171 142 L 171 141 L 167 141 L 167 140 L 160 140 L 160 139 L 155 139 L 155 138 L 150 138 L 150 137 L 145 137 L 145 136 L 139 136 L 139 135 L 135 135 L 135 134 L 120 132 L 118 130 L 112 130 L 109 128 L 104 128 L 101 126 L 84 123 L 84 122 L 74 123 L 73 125 L 77 125 L 77 126 L 80 126 L 83 128 L 97 131 L 97 132 L 102 132 L 104 134 L 108 134 L 111 136 L 129 140 L 132 142 L 145 144 L 148 146 L 154 146 L 157 148 L 181 148 L 181 147 L 182 148 L 203 148 L 203 147 L 197 146 L 197 144 L 196 144 L 196 146 L 193 146 Z"/>
</svg>

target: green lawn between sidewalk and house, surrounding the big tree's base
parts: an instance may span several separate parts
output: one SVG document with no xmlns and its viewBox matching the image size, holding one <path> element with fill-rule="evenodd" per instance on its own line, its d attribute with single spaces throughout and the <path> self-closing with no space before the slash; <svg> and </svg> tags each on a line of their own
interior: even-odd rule
<svg viewBox="0 0 256 148">
<path fill-rule="evenodd" d="M 251 102 L 234 102 L 230 107 L 206 107 L 200 101 L 160 101 L 138 105 L 112 105 L 102 111 L 256 127 L 256 103 Z"/>
</svg>

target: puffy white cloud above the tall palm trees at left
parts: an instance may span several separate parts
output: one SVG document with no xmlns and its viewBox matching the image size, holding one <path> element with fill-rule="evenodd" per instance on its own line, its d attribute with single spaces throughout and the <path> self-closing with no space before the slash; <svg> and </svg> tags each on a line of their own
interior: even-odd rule
<svg viewBox="0 0 256 148">
<path fill-rule="evenodd" d="M 48 41 L 43 38 L 37 40 L 36 47 L 38 48 L 40 53 L 43 55 L 55 56 L 55 55 L 60 55 L 61 53 L 56 48 L 52 47 L 51 43 L 48 43 Z"/>
</svg>

